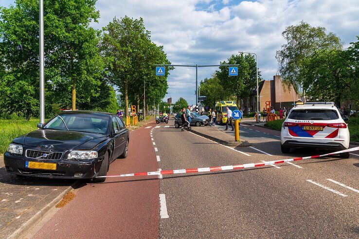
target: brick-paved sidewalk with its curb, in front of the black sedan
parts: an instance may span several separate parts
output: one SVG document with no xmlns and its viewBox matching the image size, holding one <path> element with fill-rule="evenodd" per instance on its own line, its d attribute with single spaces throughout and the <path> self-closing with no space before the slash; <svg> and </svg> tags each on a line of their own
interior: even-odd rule
<svg viewBox="0 0 359 239">
<path fill-rule="evenodd" d="M 72 189 L 73 180 L 18 178 L 0 156 L 0 238 L 18 238 Z"/>
</svg>

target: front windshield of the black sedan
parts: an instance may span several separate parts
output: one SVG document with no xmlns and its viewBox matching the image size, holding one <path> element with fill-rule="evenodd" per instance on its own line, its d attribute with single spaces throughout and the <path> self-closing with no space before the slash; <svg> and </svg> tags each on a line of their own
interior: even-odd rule
<svg viewBox="0 0 359 239">
<path fill-rule="evenodd" d="M 59 114 L 50 120 L 43 129 L 72 130 L 106 134 L 108 115 L 101 114 Z"/>
</svg>

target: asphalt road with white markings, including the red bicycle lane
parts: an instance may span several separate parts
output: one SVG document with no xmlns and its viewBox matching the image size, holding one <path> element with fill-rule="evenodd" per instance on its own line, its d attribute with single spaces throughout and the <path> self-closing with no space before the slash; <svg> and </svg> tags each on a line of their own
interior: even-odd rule
<svg viewBox="0 0 359 239">
<path fill-rule="evenodd" d="M 112 163 L 108 174 L 318 154 L 282 154 L 275 136 L 279 132 L 255 126 L 241 126 L 241 140 L 252 146 L 233 150 L 175 129 L 172 123 L 132 131 L 128 158 Z M 276 167 L 156 177 L 108 178 L 104 184 L 82 187 L 36 238 L 359 237 L 359 156 L 354 154 L 349 159 L 332 156 Z"/>
</svg>

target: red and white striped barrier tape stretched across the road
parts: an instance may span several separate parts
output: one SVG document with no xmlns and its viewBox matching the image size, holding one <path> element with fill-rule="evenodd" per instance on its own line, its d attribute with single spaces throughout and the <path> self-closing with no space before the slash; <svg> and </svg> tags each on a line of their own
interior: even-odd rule
<svg viewBox="0 0 359 239">
<path fill-rule="evenodd" d="M 178 174 L 178 173 L 197 173 L 197 172 L 213 172 L 213 171 L 225 171 L 225 170 L 235 170 L 235 169 L 243 169 L 243 168 L 251 168 L 251 167 L 260 167 L 266 165 L 274 165 L 274 164 L 282 164 L 290 161 L 298 161 L 302 159 L 315 159 L 328 155 L 346 153 L 359 150 L 359 147 L 353 147 L 344 149 L 341 151 L 326 153 L 322 155 L 308 156 L 308 157 L 299 157 L 292 159 L 283 159 L 283 160 L 275 160 L 254 164 L 244 164 L 244 165 L 227 165 L 227 166 L 219 166 L 219 167 L 199 167 L 199 168 L 187 168 L 187 169 L 175 169 L 175 170 L 162 170 L 162 171 L 154 171 L 154 172 L 142 172 L 142 173 L 128 173 L 128 174 L 119 174 L 119 175 L 108 175 L 108 176 L 98 176 L 96 178 L 113 178 L 113 177 L 131 177 L 131 176 L 150 176 L 150 175 L 163 175 L 163 174 Z"/>
</svg>

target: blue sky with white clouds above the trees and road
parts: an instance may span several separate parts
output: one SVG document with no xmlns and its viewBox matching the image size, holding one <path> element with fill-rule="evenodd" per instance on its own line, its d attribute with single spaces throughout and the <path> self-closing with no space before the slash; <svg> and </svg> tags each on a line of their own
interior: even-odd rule
<svg viewBox="0 0 359 239">
<path fill-rule="evenodd" d="M 0 0 L 7 6 L 13 0 Z M 281 33 L 304 20 L 337 34 L 347 47 L 359 35 L 359 0 L 98 0 L 101 28 L 113 17 L 144 18 L 152 40 L 164 46 L 172 64 L 218 64 L 238 51 L 258 54 L 266 79 L 277 72 Z M 199 68 L 198 79 L 216 68 Z M 195 99 L 195 69 L 178 67 L 168 77 L 176 101 Z"/>
</svg>

